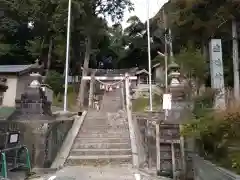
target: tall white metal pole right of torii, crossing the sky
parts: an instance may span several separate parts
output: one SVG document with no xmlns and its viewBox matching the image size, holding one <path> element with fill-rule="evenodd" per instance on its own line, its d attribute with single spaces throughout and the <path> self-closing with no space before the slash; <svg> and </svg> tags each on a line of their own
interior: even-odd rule
<svg viewBox="0 0 240 180">
<path fill-rule="evenodd" d="M 149 25 L 149 0 L 147 1 L 147 36 L 148 36 L 148 79 L 149 79 L 149 105 L 150 111 L 153 110 L 152 105 L 152 63 L 151 63 L 151 44 L 150 44 L 150 25 Z"/>
</svg>

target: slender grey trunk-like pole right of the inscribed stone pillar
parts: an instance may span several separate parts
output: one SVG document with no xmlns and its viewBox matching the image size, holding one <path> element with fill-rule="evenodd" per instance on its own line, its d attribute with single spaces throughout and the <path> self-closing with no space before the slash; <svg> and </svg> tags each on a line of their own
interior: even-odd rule
<svg viewBox="0 0 240 180">
<path fill-rule="evenodd" d="M 236 19 L 232 20 L 232 44 L 233 44 L 233 79 L 234 79 L 234 98 L 239 101 L 239 61 L 238 61 L 238 34 Z"/>
</svg>

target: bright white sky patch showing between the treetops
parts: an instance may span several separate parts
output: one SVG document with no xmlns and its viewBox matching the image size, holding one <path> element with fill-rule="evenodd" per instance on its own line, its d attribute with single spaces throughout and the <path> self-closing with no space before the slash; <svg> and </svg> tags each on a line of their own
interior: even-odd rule
<svg viewBox="0 0 240 180">
<path fill-rule="evenodd" d="M 153 17 L 168 0 L 131 0 L 134 4 L 134 11 L 125 12 L 122 22 L 123 28 L 127 27 L 127 19 L 131 16 L 137 16 L 142 22 L 147 20 L 147 1 L 149 1 L 149 18 Z"/>
</svg>

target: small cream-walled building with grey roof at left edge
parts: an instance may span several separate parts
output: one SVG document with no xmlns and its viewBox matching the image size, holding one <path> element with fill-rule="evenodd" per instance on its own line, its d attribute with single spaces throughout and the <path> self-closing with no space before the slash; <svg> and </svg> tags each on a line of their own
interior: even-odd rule
<svg viewBox="0 0 240 180">
<path fill-rule="evenodd" d="M 36 64 L 0 65 L 0 79 L 8 87 L 5 92 L 0 92 L 0 106 L 15 107 L 15 101 L 31 83 L 29 74 L 34 68 Z"/>
</svg>

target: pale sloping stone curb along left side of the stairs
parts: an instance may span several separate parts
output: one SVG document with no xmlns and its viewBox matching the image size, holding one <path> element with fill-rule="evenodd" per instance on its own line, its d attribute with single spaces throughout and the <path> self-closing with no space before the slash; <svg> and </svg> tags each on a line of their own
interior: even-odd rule
<svg viewBox="0 0 240 180">
<path fill-rule="evenodd" d="M 74 140 L 77 137 L 77 134 L 83 124 L 83 121 L 87 115 L 87 111 L 84 111 L 82 113 L 82 116 L 76 116 L 75 120 L 73 122 L 72 128 L 69 130 L 61 148 L 58 152 L 55 160 L 53 161 L 51 165 L 51 169 L 61 169 L 64 166 L 64 163 L 66 159 L 68 158 L 68 155 L 72 149 L 72 145 L 74 143 Z"/>
</svg>

